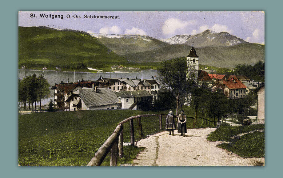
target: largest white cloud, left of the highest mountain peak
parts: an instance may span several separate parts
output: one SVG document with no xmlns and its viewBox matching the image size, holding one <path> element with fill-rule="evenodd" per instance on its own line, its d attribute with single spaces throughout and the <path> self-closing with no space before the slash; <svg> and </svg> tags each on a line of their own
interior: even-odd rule
<svg viewBox="0 0 283 178">
<path fill-rule="evenodd" d="M 177 18 L 169 18 L 165 20 L 164 25 L 162 26 L 162 32 L 164 34 L 172 34 L 177 29 L 185 28 L 186 26 L 190 24 L 196 24 L 197 21 L 190 20 L 190 21 L 181 21 Z"/>
</svg>

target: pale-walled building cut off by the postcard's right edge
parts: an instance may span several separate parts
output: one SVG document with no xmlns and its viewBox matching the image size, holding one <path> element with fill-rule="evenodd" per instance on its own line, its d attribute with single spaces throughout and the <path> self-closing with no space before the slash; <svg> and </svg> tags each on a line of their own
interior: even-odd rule
<svg viewBox="0 0 283 178">
<path fill-rule="evenodd" d="M 264 124 L 264 84 L 255 89 L 255 92 L 257 92 L 257 123 Z"/>
</svg>

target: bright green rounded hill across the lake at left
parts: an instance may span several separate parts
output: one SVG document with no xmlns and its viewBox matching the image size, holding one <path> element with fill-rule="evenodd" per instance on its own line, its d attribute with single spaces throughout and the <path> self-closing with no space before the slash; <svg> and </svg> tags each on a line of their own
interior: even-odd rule
<svg viewBox="0 0 283 178">
<path fill-rule="evenodd" d="M 19 27 L 19 68 L 48 70 L 109 70 L 111 65 L 126 63 L 88 33 L 41 27 Z"/>
</svg>

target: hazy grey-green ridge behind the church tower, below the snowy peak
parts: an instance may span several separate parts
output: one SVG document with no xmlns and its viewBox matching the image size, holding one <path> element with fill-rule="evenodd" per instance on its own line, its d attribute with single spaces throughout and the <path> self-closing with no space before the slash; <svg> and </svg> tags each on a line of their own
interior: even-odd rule
<svg viewBox="0 0 283 178">
<path fill-rule="evenodd" d="M 178 56 L 187 56 L 190 46 L 185 44 L 172 44 L 152 51 L 145 51 L 125 55 L 130 61 L 147 62 L 163 61 Z M 202 47 L 196 48 L 200 56 L 200 64 L 219 67 L 234 67 L 237 64 L 254 64 L 264 61 L 264 45 L 237 44 L 229 47 Z"/>
</svg>

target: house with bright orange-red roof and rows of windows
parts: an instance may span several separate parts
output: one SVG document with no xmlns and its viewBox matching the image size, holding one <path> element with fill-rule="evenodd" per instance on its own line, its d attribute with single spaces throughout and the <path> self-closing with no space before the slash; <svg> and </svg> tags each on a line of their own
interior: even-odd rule
<svg viewBox="0 0 283 178">
<path fill-rule="evenodd" d="M 229 98 L 244 98 L 246 95 L 246 86 L 240 81 L 236 80 L 219 80 L 216 81 L 212 87 L 213 90 L 222 89 L 224 94 Z"/>
</svg>

